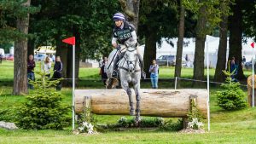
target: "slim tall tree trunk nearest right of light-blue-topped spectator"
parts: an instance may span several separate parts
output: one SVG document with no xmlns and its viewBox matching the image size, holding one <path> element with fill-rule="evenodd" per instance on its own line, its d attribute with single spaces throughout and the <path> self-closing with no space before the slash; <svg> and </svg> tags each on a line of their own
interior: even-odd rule
<svg viewBox="0 0 256 144">
<path fill-rule="evenodd" d="M 178 39 L 177 39 L 177 54 L 174 77 L 181 78 L 182 58 L 183 58 L 183 37 L 184 37 L 184 19 L 185 9 L 182 0 L 180 1 L 179 8 L 179 26 L 178 26 Z M 177 88 L 180 87 L 180 80 L 177 79 Z"/>
</svg>

